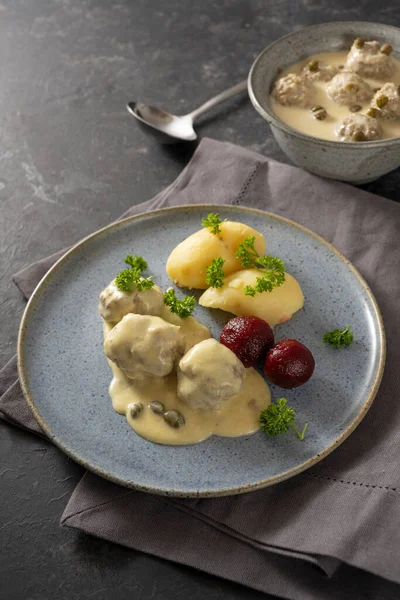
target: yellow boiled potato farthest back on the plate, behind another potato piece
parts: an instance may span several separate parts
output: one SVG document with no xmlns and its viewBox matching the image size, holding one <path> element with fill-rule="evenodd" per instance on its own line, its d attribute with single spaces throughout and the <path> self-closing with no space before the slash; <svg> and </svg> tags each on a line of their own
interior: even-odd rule
<svg viewBox="0 0 400 600">
<path fill-rule="evenodd" d="M 187 288 L 206 289 L 206 268 L 218 256 L 225 259 L 224 273 L 230 275 L 242 267 L 235 258 L 239 244 L 254 236 L 255 248 L 260 255 L 265 254 L 264 236 L 252 227 L 226 221 L 220 225 L 217 235 L 204 228 L 178 244 L 167 260 L 167 273 L 176 285 Z"/>
</svg>

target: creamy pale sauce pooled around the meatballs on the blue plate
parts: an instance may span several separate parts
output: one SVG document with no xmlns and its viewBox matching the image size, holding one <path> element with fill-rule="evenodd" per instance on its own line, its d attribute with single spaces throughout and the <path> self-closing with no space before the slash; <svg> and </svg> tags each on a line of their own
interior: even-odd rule
<svg viewBox="0 0 400 600">
<path fill-rule="evenodd" d="M 208 329 L 194 317 L 180 319 L 170 313 L 169 309 L 166 309 L 162 316 L 174 325 L 182 326 L 186 351 L 210 337 Z M 112 324 L 103 321 L 104 337 L 112 327 Z M 225 400 L 221 408 L 199 410 L 189 407 L 178 398 L 175 373 L 162 378 L 133 381 L 114 363 L 108 362 L 113 372 L 109 392 L 114 410 L 126 416 L 129 425 L 138 435 L 159 444 L 194 444 L 212 434 L 236 437 L 254 433 L 259 429 L 260 412 L 271 402 L 271 394 L 265 380 L 254 369 L 246 369 L 240 393 Z M 166 410 L 179 411 L 185 418 L 185 424 L 179 429 L 168 425 L 162 415 L 155 414 L 149 408 L 150 402 L 154 400 L 162 402 Z M 133 419 L 129 406 L 135 402 L 141 402 L 144 409 Z"/>
</svg>

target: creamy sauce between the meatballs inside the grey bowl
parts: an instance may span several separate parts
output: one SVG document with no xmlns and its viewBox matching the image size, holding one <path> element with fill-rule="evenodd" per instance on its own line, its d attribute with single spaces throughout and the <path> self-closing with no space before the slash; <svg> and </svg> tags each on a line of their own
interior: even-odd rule
<svg viewBox="0 0 400 600">
<path fill-rule="evenodd" d="M 284 69 L 282 73 L 279 74 L 279 77 L 283 77 L 288 73 L 296 73 L 300 75 L 303 68 L 310 62 L 310 60 L 313 59 L 322 61 L 327 65 L 339 67 L 340 65 L 344 65 L 346 63 L 347 54 L 348 51 L 346 50 L 340 52 L 321 52 L 320 54 L 313 54 L 312 56 L 309 56 Z M 392 81 L 396 84 L 400 84 L 400 61 L 394 57 L 393 61 L 395 62 L 396 70 L 390 79 L 382 80 L 372 79 L 371 77 L 363 77 L 364 81 L 369 83 L 372 89 L 381 88 L 386 81 Z M 338 141 L 338 136 L 335 131 L 338 122 L 344 117 L 354 113 L 350 112 L 348 106 L 336 104 L 336 102 L 329 98 L 325 91 L 328 83 L 329 82 L 326 81 L 313 82 L 313 85 L 315 86 L 313 106 L 323 106 L 326 109 L 328 116 L 324 121 L 318 121 L 318 119 L 313 116 L 310 108 L 302 108 L 300 106 L 293 105 L 283 106 L 270 95 L 269 101 L 271 108 L 277 117 L 302 133 L 326 140 Z M 364 104 L 360 102 L 359 104 L 361 104 L 362 108 L 358 113 L 355 114 L 365 114 L 370 106 L 370 102 Z M 400 119 L 379 119 L 379 123 L 381 124 L 383 130 L 382 138 L 400 137 Z"/>
</svg>

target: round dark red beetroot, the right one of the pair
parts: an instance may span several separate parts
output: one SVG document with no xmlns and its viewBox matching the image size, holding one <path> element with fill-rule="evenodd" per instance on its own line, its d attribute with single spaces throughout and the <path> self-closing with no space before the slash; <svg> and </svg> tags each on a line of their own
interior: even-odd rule
<svg viewBox="0 0 400 600">
<path fill-rule="evenodd" d="M 280 340 L 268 352 L 264 373 L 272 383 L 292 389 L 306 383 L 314 372 L 310 350 L 297 340 Z"/>
</svg>

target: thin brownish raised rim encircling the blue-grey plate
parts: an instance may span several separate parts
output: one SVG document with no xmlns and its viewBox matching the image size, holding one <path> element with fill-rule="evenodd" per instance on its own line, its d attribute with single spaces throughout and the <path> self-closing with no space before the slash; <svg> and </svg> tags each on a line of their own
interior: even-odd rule
<svg viewBox="0 0 400 600">
<path fill-rule="evenodd" d="M 299 229 L 306 235 L 315 239 L 318 243 L 324 245 L 331 252 L 336 254 L 338 256 L 338 258 L 342 262 L 344 262 L 344 264 L 347 266 L 347 268 L 354 274 L 354 276 L 358 280 L 361 287 L 364 289 L 365 293 L 367 294 L 367 296 L 372 304 L 373 310 L 375 311 L 377 329 L 378 329 L 377 333 L 379 335 L 379 342 L 380 342 L 379 343 L 380 352 L 378 354 L 378 366 L 377 366 L 375 378 L 371 385 L 370 391 L 369 391 L 367 397 L 365 398 L 364 403 L 360 407 L 359 411 L 357 412 L 357 414 L 355 415 L 353 420 L 347 425 L 347 427 L 330 444 L 328 444 L 321 452 L 318 452 L 317 454 L 308 458 L 306 461 L 288 469 L 287 471 L 284 471 L 283 473 L 273 475 L 272 477 L 267 477 L 266 479 L 261 479 L 260 481 L 257 481 L 254 483 L 247 483 L 247 484 L 229 487 L 229 488 L 225 487 L 225 488 L 221 488 L 219 490 L 185 491 L 185 490 L 181 490 L 181 489 L 174 490 L 174 489 L 168 489 L 168 488 L 162 488 L 162 487 L 153 487 L 153 486 L 147 486 L 147 485 L 143 485 L 143 484 L 137 484 L 134 481 L 125 480 L 116 475 L 113 475 L 113 473 L 102 469 L 101 467 L 97 466 L 96 464 L 91 463 L 90 461 L 86 460 L 85 458 L 83 458 L 82 456 L 77 454 L 74 450 L 72 450 L 67 444 L 65 444 L 62 441 L 62 439 L 60 439 L 52 431 L 52 429 L 47 425 L 45 419 L 41 416 L 41 414 L 35 404 L 34 398 L 32 397 L 32 395 L 30 393 L 29 377 L 28 377 L 28 374 L 27 374 L 27 371 L 25 368 L 25 363 L 24 363 L 24 343 L 25 343 L 26 331 L 27 331 L 27 328 L 29 325 L 29 319 L 30 319 L 31 313 L 34 310 L 36 304 L 40 300 L 41 294 L 43 292 L 45 292 L 46 287 L 49 284 L 51 284 L 52 277 L 55 275 L 55 273 L 60 269 L 60 267 L 62 267 L 64 265 L 65 262 L 67 262 L 69 260 L 69 258 L 71 256 L 74 256 L 77 253 L 79 254 L 80 250 L 82 248 L 84 248 L 94 238 L 99 237 L 104 233 L 108 233 L 113 229 L 118 229 L 119 227 L 124 226 L 128 222 L 134 223 L 134 222 L 140 221 L 144 218 L 153 218 L 153 217 L 157 217 L 157 216 L 169 214 L 169 213 L 174 213 L 174 212 L 195 211 L 195 210 L 196 211 L 201 211 L 201 210 L 207 211 L 210 209 L 212 209 L 214 212 L 215 211 L 223 212 L 223 210 L 232 210 L 232 209 L 239 213 L 249 213 L 250 212 L 250 213 L 252 213 L 254 215 L 258 215 L 262 218 L 267 217 L 269 219 L 278 221 L 280 223 L 284 223 L 285 225 Z M 64 452 L 64 454 L 69 456 L 72 460 L 74 460 L 75 462 L 77 462 L 78 464 L 83 466 L 88 471 L 91 471 L 92 473 L 95 473 L 96 475 L 99 475 L 103 479 L 107 479 L 108 481 L 111 481 L 112 483 L 122 485 L 124 487 L 130 488 L 133 490 L 137 490 L 137 491 L 141 491 L 141 492 L 156 494 L 156 495 L 160 495 L 160 496 L 172 496 L 172 497 L 181 497 L 181 498 L 206 498 L 206 497 L 230 496 L 230 495 L 243 494 L 243 493 L 255 491 L 258 489 L 265 488 L 265 487 L 270 487 L 272 485 L 280 483 L 281 481 L 285 481 L 286 479 L 290 479 L 291 477 L 294 477 L 295 475 L 302 473 L 306 469 L 309 469 L 310 467 L 312 467 L 315 464 L 317 464 L 318 462 L 320 462 L 326 456 L 331 454 L 331 452 L 333 452 L 338 446 L 340 446 L 340 444 L 342 444 L 349 437 L 349 435 L 351 435 L 351 433 L 353 433 L 353 431 L 361 423 L 361 421 L 367 414 L 368 410 L 370 409 L 370 407 L 375 399 L 375 396 L 378 392 L 380 383 L 382 381 L 383 371 L 384 371 L 384 367 L 385 367 L 385 361 L 386 361 L 386 334 L 385 334 L 385 328 L 384 328 L 384 323 L 383 323 L 383 318 L 382 318 L 380 308 L 378 306 L 375 296 L 374 296 L 371 288 L 369 287 L 368 283 L 366 282 L 364 277 L 360 274 L 358 269 L 351 263 L 351 261 L 348 258 L 346 258 L 344 256 L 344 254 L 342 254 L 337 248 L 335 248 L 335 246 L 333 246 L 330 242 L 325 240 L 322 236 L 315 233 L 311 229 L 304 227 L 304 225 L 301 225 L 300 223 L 296 223 L 295 221 L 288 219 L 287 217 L 282 217 L 281 215 L 277 215 L 275 213 L 264 211 L 264 210 L 261 210 L 258 208 L 237 206 L 237 205 L 230 205 L 230 204 L 209 204 L 209 203 L 208 204 L 189 204 L 189 205 L 184 204 L 184 205 L 179 205 L 179 206 L 161 208 L 161 209 L 152 210 L 152 211 L 148 211 L 148 212 L 141 212 L 136 215 L 132 215 L 132 216 L 120 219 L 118 221 L 114 221 L 114 222 L 110 223 L 109 225 L 106 225 L 105 227 L 102 227 L 101 229 L 98 229 L 95 232 L 87 235 L 82 240 L 80 240 L 79 242 L 74 244 L 69 250 L 67 250 L 54 263 L 54 265 L 52 267 L 50 267 L 50 269 L 46 272 L 46 274 L 43 276 L 43 278 L 39 281 L 39 283 L 33 290 L 32 294 L 28 300 L 28 303 L 25 307 L 24 313 L 22 315 L 22 319 L 21 319 L 21 323 L 20 323 L 19 331 L 18 331 L 18 340 L 17 340 L 18 376 L 19 376 L 19 381 L 20 381 L 22 392 L 24 394 L 25 400 L 26 400 L 36 422 L 39 424 L 41 429 L 44 431 L 44 433 L 47 435 L 49 440 L 55 446 L 57 446 L 62 452 Z"/>
</svg>

